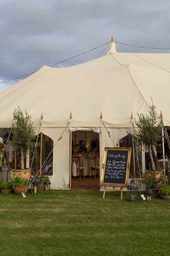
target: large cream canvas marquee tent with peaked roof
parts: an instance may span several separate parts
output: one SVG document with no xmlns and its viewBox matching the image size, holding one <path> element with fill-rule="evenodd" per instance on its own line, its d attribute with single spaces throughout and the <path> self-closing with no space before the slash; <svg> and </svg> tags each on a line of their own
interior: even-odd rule
<svg viewBox="0 0 170 256">
<path fill-rule="evenodd" d="M 55 145 L 70 111 L 72 121 L 53 152 L 52 188 L 69 189 L 70 128 L 95 128 L 100 133 L 100 163 L 104 147 L 113 147 L 117 138 L 132 134 L 131 112 L 146 113 L 152 96 L 170 126 L 170 54 L 117 53 L 110 42 L 108 54 L 67 68 L 44 66 L 33 75 L 0 93 L 0 127 L 10 127 L 17 105 L 32 115 L 38 131 L 41 112 L 41 131 Z M 100 120 L 100 112 L 110 131 Z"/>
</svg>

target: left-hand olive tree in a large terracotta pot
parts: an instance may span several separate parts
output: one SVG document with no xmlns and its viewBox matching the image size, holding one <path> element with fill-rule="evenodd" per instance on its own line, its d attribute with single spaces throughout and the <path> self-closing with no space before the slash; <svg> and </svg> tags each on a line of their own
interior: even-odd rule
<svg viewBox="0 0 170 256">
<path fill-rule="evenodd" d="M 34 147 L 35 132 L 32 128 L 33 122 L 27 111 L 24 114 L 19 107 L 17 110 L 15 109 L 14 116 L 16 121 L 12 126 L 12 133 L 14 134 L 12 145 L 20 153 L 20 169 L 14 169 L 13 172 L 14 175 L 22 174 L 22 177 L 26 174 L 26 178 L 29 179 L 29 169 L 25 169 L 24 156 Z"/>
</svg>

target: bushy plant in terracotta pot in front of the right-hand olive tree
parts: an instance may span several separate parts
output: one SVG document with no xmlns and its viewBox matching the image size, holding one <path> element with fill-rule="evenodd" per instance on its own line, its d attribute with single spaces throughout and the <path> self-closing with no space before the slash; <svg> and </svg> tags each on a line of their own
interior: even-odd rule
<svg viewBox="0 0 170 256">
<path fill-rule="evenodd" d="M 164 175 L 161 174 L 160 177 L 157 178 L 156 172 L 150 172 L 150 175 L 144 175 L 142 179 L 142 183 L 144 183 L 146 187 L 150 187 L 152 189 L 153 197 L 157 197 L 163 181 L 165 181 Z"/>
</svg>

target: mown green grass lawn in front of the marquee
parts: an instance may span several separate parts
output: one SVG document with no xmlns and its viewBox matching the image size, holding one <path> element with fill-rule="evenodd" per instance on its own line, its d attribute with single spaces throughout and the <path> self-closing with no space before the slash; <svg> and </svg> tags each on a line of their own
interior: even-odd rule
<svg viewBox="0 0 170 256">
<path fill-rule="evenodd" d="M 170 255 L 170 202 L 119 192 L 0 194 L 0 255 Z"/>
</svg>

